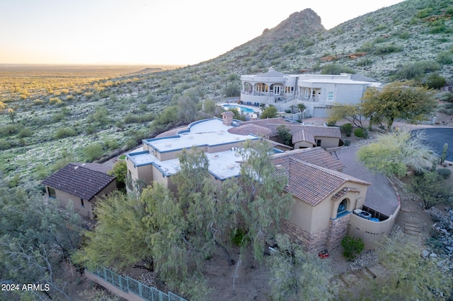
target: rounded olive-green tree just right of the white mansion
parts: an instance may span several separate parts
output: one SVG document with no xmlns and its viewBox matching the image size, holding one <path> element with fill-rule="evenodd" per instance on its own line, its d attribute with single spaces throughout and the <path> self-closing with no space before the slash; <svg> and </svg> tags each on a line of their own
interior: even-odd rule
<svg viewBox="0 0 453 301">
<path fill-rule="evenodd" d="M 423 87 L 395 82 L 382 91 L 369 88 L 362 97 L 362 112 L 365 117 L 384 121 L 389 129 L 395 119 L 409 123 L 420 122 L 437 107 L 432 93 Z"/>
</svg>

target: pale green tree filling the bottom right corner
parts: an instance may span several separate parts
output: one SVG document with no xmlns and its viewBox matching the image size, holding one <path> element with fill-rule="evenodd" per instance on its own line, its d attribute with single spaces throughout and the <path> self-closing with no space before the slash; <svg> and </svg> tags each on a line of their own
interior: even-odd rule
<svg viewBox="0 0 453 301">
<path fill-rule="evenodd" d="M 439 300 L 449 296 L 451 274 L 441 271 L 439 261 L 420 256 L 422 250 L 403 232 L 392 232 L 378 249 L 379 264 L 386 268 L 386 277 L 369 279 L 376 300 Z"/>
</svg>

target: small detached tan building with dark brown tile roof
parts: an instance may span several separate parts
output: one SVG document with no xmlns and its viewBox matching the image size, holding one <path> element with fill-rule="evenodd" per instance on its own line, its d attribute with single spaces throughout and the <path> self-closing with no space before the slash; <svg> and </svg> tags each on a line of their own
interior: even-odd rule
<svg viewBox="0 0 453 301">
<path fill-rule="evenodd" d="M 86 218 L 93 218 L 96 201 L 103 199 L 117 188 L 115 177 L 108 175 L 108 167 L 97 163 L 69 163 L 47 177 L 47 197 L 57 199 L 65 208 L 71 201 L 74 211 Z"/>
</svg>

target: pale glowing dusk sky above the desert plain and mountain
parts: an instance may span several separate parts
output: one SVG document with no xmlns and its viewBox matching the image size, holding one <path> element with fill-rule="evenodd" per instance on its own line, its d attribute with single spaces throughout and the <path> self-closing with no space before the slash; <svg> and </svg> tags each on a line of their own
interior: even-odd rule
<svg viewBox="0 0 453 301">
<path fill-rule="evenodd" d="M 197 64 L 313 9 L 326 29 L 401 0 L 0 0 L 0 64 Z"/>
</svg>

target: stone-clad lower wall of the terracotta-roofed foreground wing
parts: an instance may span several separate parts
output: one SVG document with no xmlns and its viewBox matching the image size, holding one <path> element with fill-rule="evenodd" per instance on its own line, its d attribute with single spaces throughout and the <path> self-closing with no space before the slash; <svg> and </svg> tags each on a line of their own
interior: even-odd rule
<svg viewBox="0 0 453 301">
<path fill-rule="evenodd" d="M 321 252 L 328 244 L 328 229 L 319 230 L 313 234 L 302 230 L 289 220 L 282 219 L 282 232 L 294 242 L 301 242 L 309 252 Z"/>
</svg>

